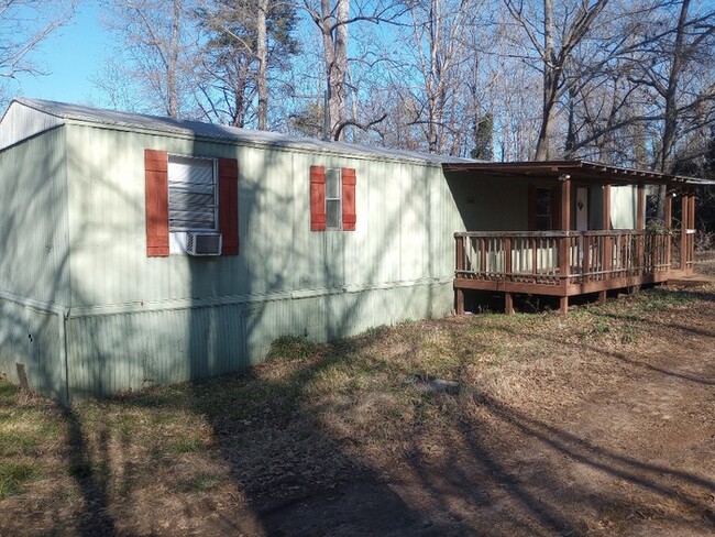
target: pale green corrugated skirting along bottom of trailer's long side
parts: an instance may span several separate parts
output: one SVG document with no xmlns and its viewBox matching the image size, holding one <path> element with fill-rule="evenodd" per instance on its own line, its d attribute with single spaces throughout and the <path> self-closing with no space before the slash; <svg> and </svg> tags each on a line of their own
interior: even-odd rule
<svg viewBox="0 0 715 537">
<path fill-rule="evenodd" d="M 212 308 L 69 319 L 73 398 L 105 396 L 239 371 L 285 335 L 315 341 L 444 316 L 452 286 L 420 285 Z"/>
</svg>

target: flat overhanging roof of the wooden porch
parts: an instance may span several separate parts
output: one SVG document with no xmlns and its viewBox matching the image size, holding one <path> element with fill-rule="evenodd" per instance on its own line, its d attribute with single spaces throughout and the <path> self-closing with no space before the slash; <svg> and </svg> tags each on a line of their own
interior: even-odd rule
<svg viewBox="0 0 715 537">
<path fill-rule="evenodd" d="M 715 180 L 662 174 L 645 169 L 597 164 L 587 161 L 461 162 L 444 163 L 446 172 L 480 172 L 496 177 L 552 177 L 588 180 L 597 184 L 650 183 L 659 185 L 715 185 Z"/>
</svg>

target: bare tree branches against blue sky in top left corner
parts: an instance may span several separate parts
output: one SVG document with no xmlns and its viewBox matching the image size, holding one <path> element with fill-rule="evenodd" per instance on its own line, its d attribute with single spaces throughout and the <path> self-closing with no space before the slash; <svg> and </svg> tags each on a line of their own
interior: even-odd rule
<svg viewBox="0 0 715 537">
<path fill-rule="evenodd" d="M 3 0 L 0 2 L 0 101 L 8 83 L 23 75 L 43 75 L 33 53 L 75 14 L 76 0 Z"/>
</svg>

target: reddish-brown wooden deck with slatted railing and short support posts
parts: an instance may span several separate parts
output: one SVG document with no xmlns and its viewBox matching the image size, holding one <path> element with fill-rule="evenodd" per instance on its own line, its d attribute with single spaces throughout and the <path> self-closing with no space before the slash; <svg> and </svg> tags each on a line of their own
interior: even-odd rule
<svg viewBox="0 0 715 537">
<path fill-rule="evenodd" d="M 671 274 L 672 238 L 667 232 L 514 231 L 455 233 L 454 291 L 458 314 L 464 313 L 464 291 L 560 297 L 565 314 L 569 297 L 662 283 Z M 688 249 L 690 250 L 690 249 Z M 685 259 L 684 272 L 692 271 Z"/>
</svg>

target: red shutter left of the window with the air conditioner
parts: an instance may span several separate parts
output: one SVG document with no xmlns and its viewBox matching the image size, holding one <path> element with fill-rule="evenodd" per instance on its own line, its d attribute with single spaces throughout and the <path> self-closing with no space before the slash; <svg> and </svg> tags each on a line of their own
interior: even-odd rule
<svg viewBox="0 0 715 537">
<path fill-rule="evenodd" d="M 144 150 L 146 256 L 168 255 L 168 154 Z"/>
</svg>

